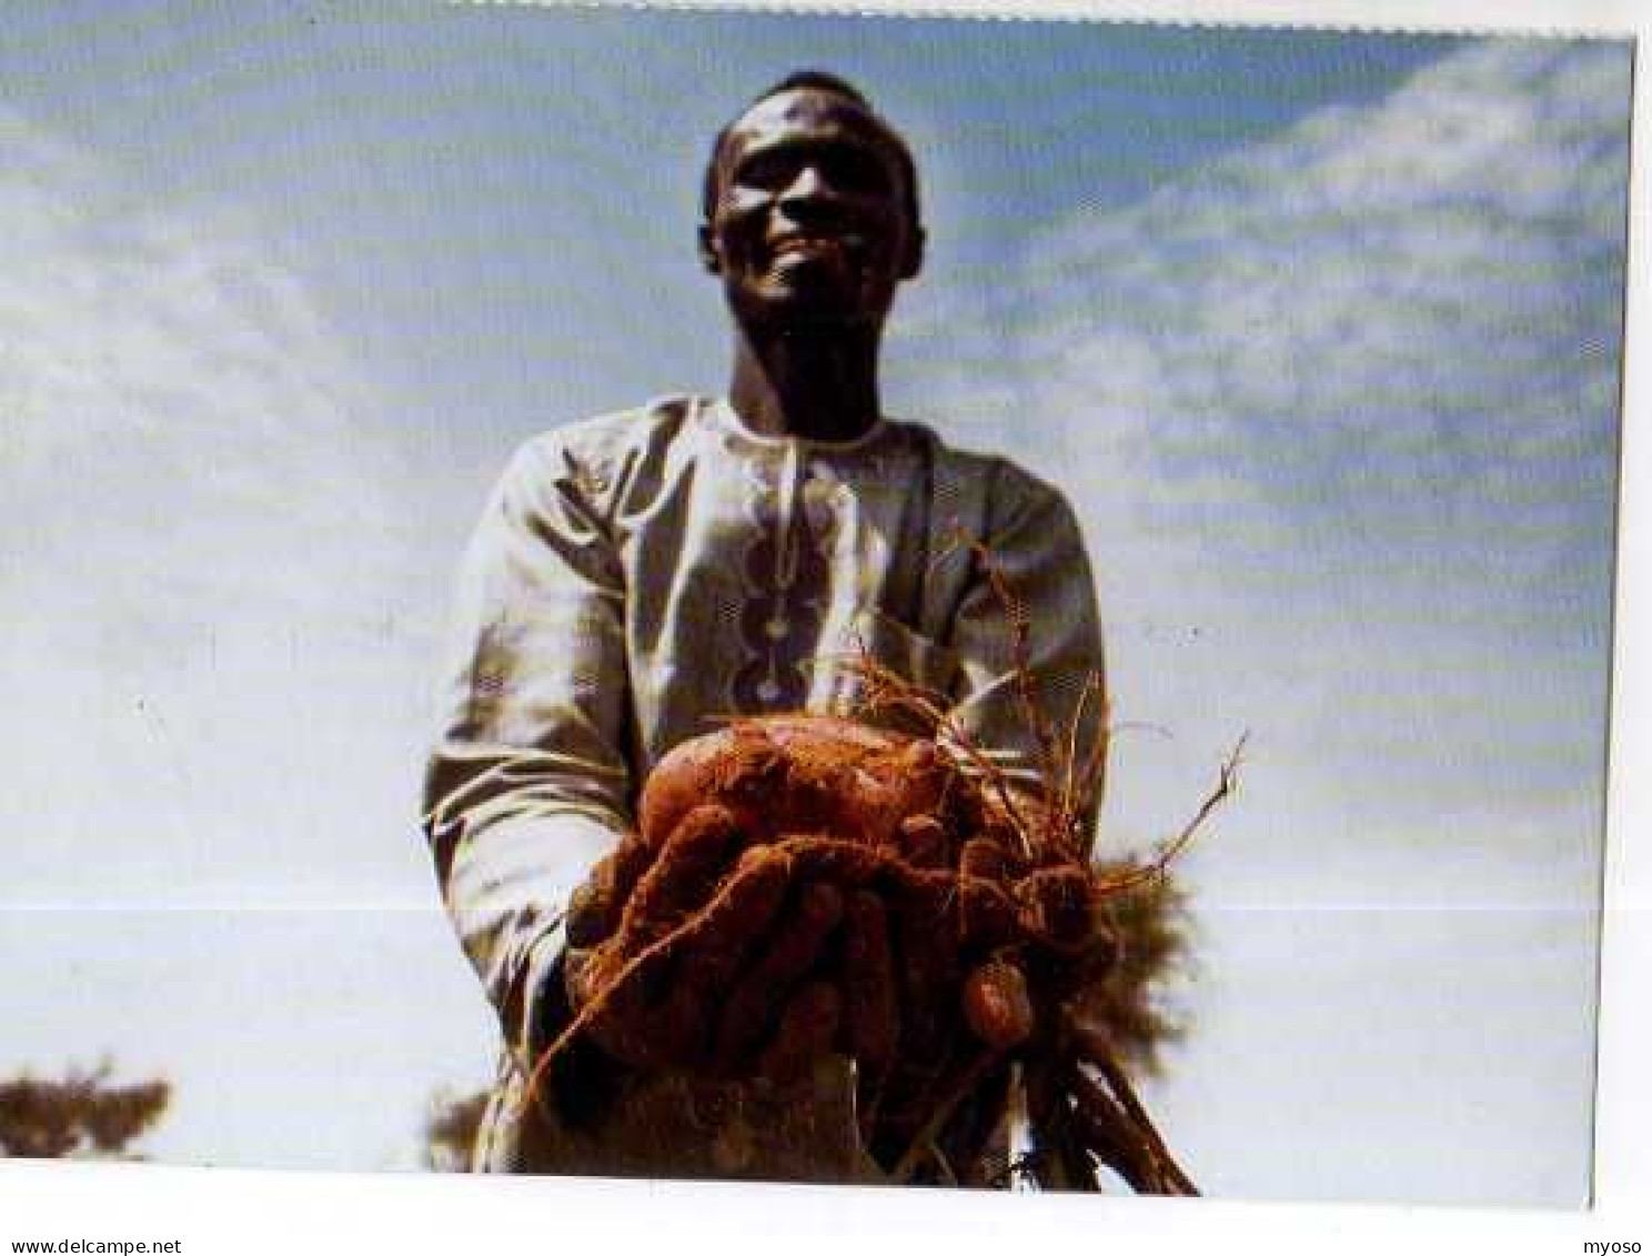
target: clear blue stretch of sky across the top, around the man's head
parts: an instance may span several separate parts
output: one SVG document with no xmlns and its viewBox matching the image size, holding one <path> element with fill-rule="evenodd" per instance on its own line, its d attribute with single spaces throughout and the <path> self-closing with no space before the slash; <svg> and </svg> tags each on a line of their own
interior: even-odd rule
<svg viewBox="0 0 1652 1256">
<path fill-rule="evenodd" d="M 13 106 L 121 154 L 137 195 L 261 215 L 355 354 L 406 390 L 410 420 L 476 433 L 484 459 L 501 426 L 720 382 L 720 306 L 692 251 L 702 154 L 733 102 L 800 64 L 864 83 L 912 134 L 935 269 L 970 278 L 1036 223 L 1127 203 L 1450 48 L 757 13 L 83 8 L 21 12 L 0 53 Z M 638 326 L 639 294 L 671 335 Z"/>
</svg>

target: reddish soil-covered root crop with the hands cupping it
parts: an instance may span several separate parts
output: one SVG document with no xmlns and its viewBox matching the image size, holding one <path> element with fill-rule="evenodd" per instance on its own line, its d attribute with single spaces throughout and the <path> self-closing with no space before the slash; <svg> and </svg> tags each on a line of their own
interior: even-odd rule
<svg viewBox="0 0 1652 1256">
<path fill-rule="evenodd" d="M 983 1096 L 1019 1064 L 1023 1170 L 1099 1188 L 1107 1167 L 1191 1193 L 1107 1026 L 1082 1015 L 1120 968 L 1110 906 L 1161 868 L 1097 868 L 1059 815 L 966 754 L 836 717 L 740 721 L 679 747 L 639 816 L 593 876 L 578 1015 L 542 1068 L 580 1035 L 633 1069 L 730 1079 L 783 1082 L 836 1051 L 857 1064 L 887 1172 L 985 1183 Z"/>
</svg>

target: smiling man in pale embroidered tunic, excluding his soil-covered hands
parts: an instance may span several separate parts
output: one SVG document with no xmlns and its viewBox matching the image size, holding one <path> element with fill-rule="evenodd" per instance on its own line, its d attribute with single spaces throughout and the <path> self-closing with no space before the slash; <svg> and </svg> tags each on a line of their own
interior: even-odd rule
<svg viewBox="0 0 1652 1256">
<path fill-rule="evenodd" d="M 525 1101 L 527 1063 L 570 1016 L 570 892 L 633 823 L 666 752 L 733 714 L 852 707 L 852 674 L 828 666 L 852 649 L 945 694 L 976 744 L 1026 773 L 1034 734 L 1008 608 L 958 535 L 983 542 L 1023 603 L 1023 661 L 1054 727 L 1100 671 L 1061 494 L 882 415 L 884 324 L 923 259 L 905 142 L 849 84 L 795 74 L 717 137 L 704 210 L 700 256 L 733 322 L 729 397 L 529 443 L 464 565 L 426 831 L 506 1035 L 486 1168 L 838 1175 L 785 1147 L 638 1158 L 615 1150 L 620 1135 L 577 1132 L 578 1087 Z M 1102 706 L 1087 707 L 1080 745 Z M 662 1144 L 682 1129 L 643 1125 Z"/>
</svg>

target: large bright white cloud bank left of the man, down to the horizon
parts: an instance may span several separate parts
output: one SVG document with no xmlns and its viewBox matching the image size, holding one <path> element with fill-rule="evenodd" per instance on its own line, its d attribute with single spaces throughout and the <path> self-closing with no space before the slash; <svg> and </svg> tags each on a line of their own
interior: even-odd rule
<svg viewBox="0 0 1652 1256">
<path fill-rule="evenodd" d="M 170 1078 L 165 1158 L 406 1163 L 492 1038 L 416 831 L 416 443 L 233 207 L 0 112 L 0 1069 Z"/>
</svg>

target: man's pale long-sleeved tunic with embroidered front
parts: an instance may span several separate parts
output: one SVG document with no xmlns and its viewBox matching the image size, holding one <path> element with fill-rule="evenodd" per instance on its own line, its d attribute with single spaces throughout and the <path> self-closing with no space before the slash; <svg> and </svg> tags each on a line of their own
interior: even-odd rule
<svg viewBox="0 0 1652 1256">
<path fill-rule="evenodd" d="M 507 1043 L 653 765 L 735 714 L 852 704 L 833 659 L 871 651 L 1029 768 L 1008 608 L 960 537 L 1024 608 L 1037 702 L 1066 730 L 1102 668 L 1094 582 L 1066 499 L 1014 464 L 890 420 L 849 443 L 758 436 L 705 398 L 517 453 L 466 555 L 425 797 Z M 1080 747 L 1104 709 L 1084 704 Z"/>
</svg>

